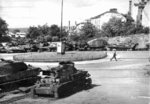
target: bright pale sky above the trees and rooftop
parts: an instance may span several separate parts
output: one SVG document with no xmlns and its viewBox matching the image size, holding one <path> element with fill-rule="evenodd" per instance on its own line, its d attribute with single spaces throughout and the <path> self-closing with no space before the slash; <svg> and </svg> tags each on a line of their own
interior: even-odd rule
<svg viewBox="0 0 150 104">
<path fill-rule="evenodd" d="M 133 3 L 138 0 L 133 0 Z M 127 13 L 129 0 L 64 0 L 63 24 L 73 25 L 90 17 L 99 15 L 110 8 L 117 8 L 120 13 Z M 61 0 L 0 0 L 0 17 L 9 27 L 29 27 L 37 25 L 60 26 Z M 137 7 L 133 6 L 133 17 Z"/>
</svg>

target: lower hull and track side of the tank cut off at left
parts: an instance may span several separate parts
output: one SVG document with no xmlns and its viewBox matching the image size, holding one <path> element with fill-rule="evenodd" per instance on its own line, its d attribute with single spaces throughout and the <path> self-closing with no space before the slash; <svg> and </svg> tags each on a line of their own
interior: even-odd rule
<svg viewBox="0 0 150 104">
<path fill-rule="evenodd" d="M 0 94 L 13 91 L 19 87 L 28 87 L 36 83 L 40 79 L 39 68 L 28 69 L 18 73 L 9 74 L 0 77 Z"/>
</svg>

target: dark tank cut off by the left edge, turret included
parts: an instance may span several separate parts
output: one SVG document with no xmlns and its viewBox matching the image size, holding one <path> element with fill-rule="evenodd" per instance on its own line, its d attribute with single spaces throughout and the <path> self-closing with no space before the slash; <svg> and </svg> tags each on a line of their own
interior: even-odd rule
<svg viewBox="0 0 150 104">
<path fill-rule="evenodd" d="M 40 68 L 26 65 L 24 62 L 1 59 L 0 94 L 34 84 L 39 79 L 40 71 Z"/>
</svg>

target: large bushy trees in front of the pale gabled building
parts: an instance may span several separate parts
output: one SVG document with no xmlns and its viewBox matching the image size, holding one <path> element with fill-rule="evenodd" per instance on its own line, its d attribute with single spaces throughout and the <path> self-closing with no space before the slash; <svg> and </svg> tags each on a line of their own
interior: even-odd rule
<svg viewBox="0 0 150 104">
<path fill-rule="evenodd" d="M 126 17 L 126 21 L 121 18 L 112 17 L 107 23 L 102 25 L 101 33 L 108 37 L 127 36 L 131 34 L 149 33 L 148 27 L 134 24 L 132 18 Z"/>
</svg>

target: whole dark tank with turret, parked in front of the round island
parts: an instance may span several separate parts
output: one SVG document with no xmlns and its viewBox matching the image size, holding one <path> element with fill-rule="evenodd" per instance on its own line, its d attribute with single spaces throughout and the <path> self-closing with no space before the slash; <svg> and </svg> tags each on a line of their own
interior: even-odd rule
<svg viewBox="0 0 150 104">
<path fill-rule="evenodd" d="M 91 86 L 88 71 L 77 70 L 73 62 L 60 62 L 57 67 L 42 71 L 43 78 L 37 82 L 34 95 L 60 98 Z"/>
</svg>

